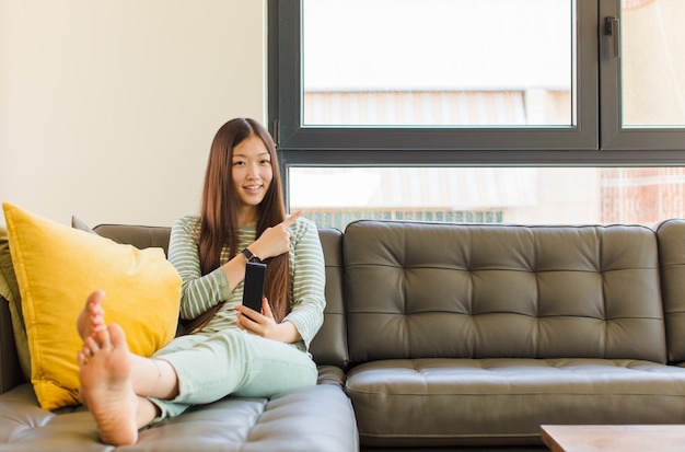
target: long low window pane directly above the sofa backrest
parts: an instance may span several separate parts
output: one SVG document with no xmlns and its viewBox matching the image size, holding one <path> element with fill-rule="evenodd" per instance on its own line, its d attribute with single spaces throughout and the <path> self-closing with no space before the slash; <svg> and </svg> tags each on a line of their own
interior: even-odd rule
<svg viewBox="0 0 685 452">
<path fill-rule="evenodd" d="M 289 178 L 290 210 L 340 230 L 364 218 L 645 225 L 685 218 L 683 167 L 291 167 Z"/>
</svg>

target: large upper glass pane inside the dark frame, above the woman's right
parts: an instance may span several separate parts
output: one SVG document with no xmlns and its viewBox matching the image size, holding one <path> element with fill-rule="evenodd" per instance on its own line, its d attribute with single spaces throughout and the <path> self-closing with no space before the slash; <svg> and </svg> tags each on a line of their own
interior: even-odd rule
<svg viewBox="0 0 685 452">
<path fill-rule="evenodd" d="M 304 126 L 576 121 L 572 0 L 303 0 Z"/>
</svg>

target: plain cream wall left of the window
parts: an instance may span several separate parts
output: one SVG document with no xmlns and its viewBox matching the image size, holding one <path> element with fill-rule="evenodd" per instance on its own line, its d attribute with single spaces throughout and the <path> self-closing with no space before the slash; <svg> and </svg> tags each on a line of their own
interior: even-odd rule
<svg viewBox="0 0 685 452">
<path fill-rule="evenodd" d="M 169 225 L 235 116 L 267 117 L 266 0 L 0 0 L 0 201 Z"/>
</svg>

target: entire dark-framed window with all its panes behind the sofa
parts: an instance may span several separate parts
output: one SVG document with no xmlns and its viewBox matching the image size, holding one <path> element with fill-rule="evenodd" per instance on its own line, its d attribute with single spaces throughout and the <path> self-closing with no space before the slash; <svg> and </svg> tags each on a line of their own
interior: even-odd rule
<svg viewBox="0 0 685 452">
<path fill-rule="evenodd" d="M 269 10 L 288 205 L 321 227 L 685 217 L 683 0 Z"/>
</svg>

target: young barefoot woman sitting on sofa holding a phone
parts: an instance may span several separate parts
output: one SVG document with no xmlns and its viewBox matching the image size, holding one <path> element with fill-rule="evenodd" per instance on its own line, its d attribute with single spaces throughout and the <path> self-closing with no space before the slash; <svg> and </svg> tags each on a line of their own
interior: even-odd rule
<svg viewBox="0 0 685 452">
<path fill-rule="evenodd" d="M 314 223 L 286 217 L 275 146 L 257 121 L 232 119 L 217 132 L 200 216 L 173 225 L 169 259 L 191 334 L 148 359 L 105 324 L 102 291 L 79 315 L 81 397 L 103 442 L 135 443 L 139 428 L 229 394 L 268 397 L 316 384 L 307 349 L 323 323 L 323 252 Z M 267 264 L 262 314 L 242 305 L 255 259 Z"/>
</svg>

